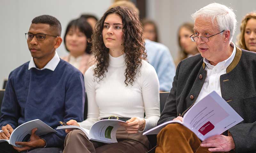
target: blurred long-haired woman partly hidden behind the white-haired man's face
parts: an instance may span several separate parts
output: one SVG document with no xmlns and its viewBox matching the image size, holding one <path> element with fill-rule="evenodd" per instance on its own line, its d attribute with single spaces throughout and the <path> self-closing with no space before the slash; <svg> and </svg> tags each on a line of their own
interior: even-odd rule
<svg viewBox="0 0 256 153">
<path fill-rule="evenodd" d="M 193 23 L 184 23 L 180 26 L 178 30 L 178 42 L 180 47 L 180 54 L 178 59 L 175 60 L 175 64 L 178 65 L 181 60 L 185 58 L 195 56 L 199 54 L 196 43 L 191 41 L 189 36 L 194 33 Z"/>
</svg>

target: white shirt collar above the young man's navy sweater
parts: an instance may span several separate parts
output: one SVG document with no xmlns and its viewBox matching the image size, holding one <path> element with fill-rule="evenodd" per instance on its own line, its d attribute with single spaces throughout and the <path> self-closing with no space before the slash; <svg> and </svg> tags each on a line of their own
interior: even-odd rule
<svg viewBox="0 0 256 153">
<path fill-rule="evenodd" d="M 59 62 L 60 62 L 60 57 L 59 57 L 58 53 L 55 52 L 55 55 L 52 57 L 52 59 L 42 69 L 38 69 L 36 67 L 33 57 L 31 57 L 31 60 L 28 64 L 28 70 L 31 68 L 36 68 L 38 70 L 50 69 L 50 70 L 54 71 L 56 69 L 57 65 L 59 64 Z"/>
</svg>

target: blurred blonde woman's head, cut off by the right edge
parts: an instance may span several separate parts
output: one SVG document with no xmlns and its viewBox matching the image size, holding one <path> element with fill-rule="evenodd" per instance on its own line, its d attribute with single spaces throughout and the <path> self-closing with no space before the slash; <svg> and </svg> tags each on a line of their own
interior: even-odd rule
<svg viewBox="0 0 256 153">
<path fill-rule="evenodd" d="M 242 49 L 256 52 L 256 12 L 248 13 L 243 18 L 237 45 Z"/>
</svg>

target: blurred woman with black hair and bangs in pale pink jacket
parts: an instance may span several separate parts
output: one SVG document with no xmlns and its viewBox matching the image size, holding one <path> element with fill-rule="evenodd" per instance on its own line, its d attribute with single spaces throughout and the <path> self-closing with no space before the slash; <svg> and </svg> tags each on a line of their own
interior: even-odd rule
<svg viewBox="0 0 256 153">
<path fill-rule="evenodd" d="M 64 44 L 70 54 L 62 57 L 62 59 L 79 69 L 83 74 L 94 64 L 91 54 L 91 37 L 92 27 L 84 18 L 78 18 L 68 23 Z"/>
</svg>

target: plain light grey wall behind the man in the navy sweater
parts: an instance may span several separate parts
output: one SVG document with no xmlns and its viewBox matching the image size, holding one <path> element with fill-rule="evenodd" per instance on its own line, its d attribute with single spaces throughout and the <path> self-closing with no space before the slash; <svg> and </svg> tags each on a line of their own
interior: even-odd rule
<svg viewBox="0 0 256 153">
<path fill-rule="evenodd" d="M 43 14 L 56 17 L 64 36 L 71 19 L 82 13 L 100 18 L 111 4 L 112 0 L 0 0 L 0 89 L 4 78 L 31 58 L 24 33 L 33 18 Z M 67 54 L 63 44 L 57 49 L 60 56 Z"/>
</svg>

